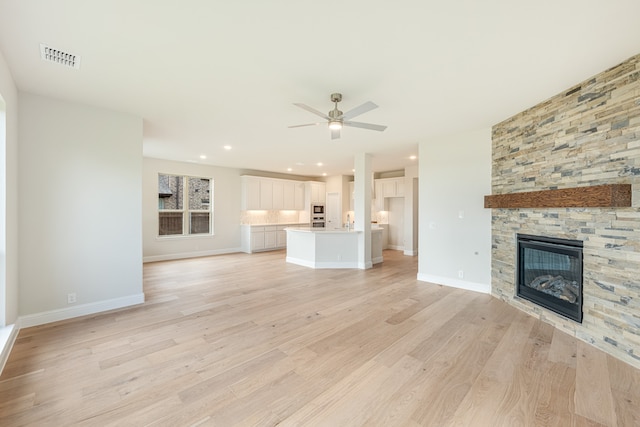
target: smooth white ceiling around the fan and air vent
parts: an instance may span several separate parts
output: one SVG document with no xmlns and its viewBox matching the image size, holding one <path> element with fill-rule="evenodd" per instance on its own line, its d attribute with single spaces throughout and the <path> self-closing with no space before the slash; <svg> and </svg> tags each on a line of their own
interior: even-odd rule
<svg viewBox="0 0 640 427">
<path fill-rule="evenodd" d="M 0 50 L 21 91 L 142 117 L 145 156 L 317 176 L 363 152 L 402 169 L 419 142 L 612 67 L 640 53 L 639 16 L 638 0 L 0 0 Z M 387 130 L 288 128 L 317 118 L 294 102 L 328 112 L 332 92 L 378 104 L 355 120 Z"/>
</svg>

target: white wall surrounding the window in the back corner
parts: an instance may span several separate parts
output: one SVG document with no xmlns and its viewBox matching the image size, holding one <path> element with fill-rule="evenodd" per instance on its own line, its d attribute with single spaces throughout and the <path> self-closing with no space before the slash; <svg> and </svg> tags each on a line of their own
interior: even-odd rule
<svg viewBox="0 0 640 427">
<path fill-rule="evenodd" d="M 158 238 L 158 174 L 213 178 L 213 236 Z M 144 261 L 240 251 L 241 171 L 144 158 L 142 224 Z"/>
</svg>

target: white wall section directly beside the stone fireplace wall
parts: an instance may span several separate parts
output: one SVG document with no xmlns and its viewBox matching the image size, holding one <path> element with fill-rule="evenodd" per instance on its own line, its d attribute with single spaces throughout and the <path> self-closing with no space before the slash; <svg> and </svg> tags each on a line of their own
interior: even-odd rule
<svg viewBox="0 0 640 427">
<path fill-rule="evenodd" d="M 423 141 L 419 150 L 418 280 L 488 293 L 491 129 Z"/>
</svg>

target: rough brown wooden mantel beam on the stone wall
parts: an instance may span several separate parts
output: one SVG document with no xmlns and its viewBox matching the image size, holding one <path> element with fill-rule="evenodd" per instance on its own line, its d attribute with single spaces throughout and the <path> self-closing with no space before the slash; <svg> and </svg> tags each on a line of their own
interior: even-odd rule
<svg viewBox="0 0 640 427">
<path fill-rule="evenodd" d="M 506 209 L 631 207 L 631 184 L 494 194 L 484 196 L 484 207 Z"/>
</svg>

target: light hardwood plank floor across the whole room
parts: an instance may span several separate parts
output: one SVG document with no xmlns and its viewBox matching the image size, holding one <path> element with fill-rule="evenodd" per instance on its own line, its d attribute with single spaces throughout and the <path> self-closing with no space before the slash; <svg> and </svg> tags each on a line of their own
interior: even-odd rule
<svg viewBox="0 0 640 427">
<path fill-rule="evenodd" d="M 488 295 L 284 252 L 144 266 L 143 305 L 20 331 L 1 426 L 638 426 L 640 371 Z"/>
</svg>

